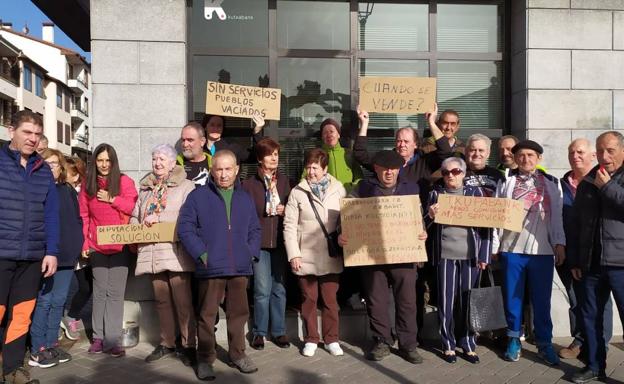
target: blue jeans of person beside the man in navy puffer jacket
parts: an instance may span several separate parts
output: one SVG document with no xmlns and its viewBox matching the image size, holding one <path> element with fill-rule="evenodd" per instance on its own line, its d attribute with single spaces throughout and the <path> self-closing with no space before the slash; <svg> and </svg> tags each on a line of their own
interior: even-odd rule
<svg viewBox="0 0 624 384">
<path fill-rule="evenodd" d="M 74 268 L 67 267 L 59 268 L 54 275 L 43 279 L 30 326 L 33 351 L 51 348 L 58 343 L 58 331 L 73 276 Z"/>
</svg>

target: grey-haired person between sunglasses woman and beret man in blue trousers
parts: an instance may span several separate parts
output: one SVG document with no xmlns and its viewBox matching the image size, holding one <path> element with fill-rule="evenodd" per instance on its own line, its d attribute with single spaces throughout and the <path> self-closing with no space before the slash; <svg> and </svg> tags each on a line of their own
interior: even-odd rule
<svg viewBox="0 0 624 384">
<path fill-rule="evenodd" d="M 475 133 L 468 138 L 464 153 L 468 165 L 464 185 L 480 187 L 487 197 L 496 195 L 500 184 L 505 182 L 505 177 L 496 168 L 487 165 L 491 145 L 489 137 Z"/>
</svg>

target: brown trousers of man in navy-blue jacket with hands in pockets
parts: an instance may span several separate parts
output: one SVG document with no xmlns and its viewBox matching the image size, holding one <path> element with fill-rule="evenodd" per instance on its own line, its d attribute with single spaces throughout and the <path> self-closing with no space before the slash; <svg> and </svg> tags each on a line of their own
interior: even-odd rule
<svg viewBox="0 0 624 384">
<path fill-rule="evenodd" d="M 200 305 L 197 322 L 197 359 L 200 362 L 212 364 L 217 358 L 214 325 L 226 288 L 228 354 L 232 361 L 245 357 L 245 322 L 249 318 L 247 280 L 247 276 L 197 280 Z"/>
</svg>

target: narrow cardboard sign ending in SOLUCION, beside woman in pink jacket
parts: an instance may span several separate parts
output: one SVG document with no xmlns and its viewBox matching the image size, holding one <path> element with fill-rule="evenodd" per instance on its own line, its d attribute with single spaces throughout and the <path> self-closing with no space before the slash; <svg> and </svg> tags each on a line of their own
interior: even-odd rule
<svg viewBox="0 0 624 384">
<path fill-rule="evenodd" d="M 98 245 L 168 243 L 177 241 L 176 223 L 103 225 L 97 227 Z"/>
</svg>

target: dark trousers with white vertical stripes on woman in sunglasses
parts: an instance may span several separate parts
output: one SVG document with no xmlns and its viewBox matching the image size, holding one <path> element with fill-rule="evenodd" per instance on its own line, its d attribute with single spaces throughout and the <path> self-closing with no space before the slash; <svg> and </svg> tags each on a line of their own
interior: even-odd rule
<svg viewBox="0 0 624 384">
<path fill-rule="evenodd" d="M 457 347 L 456 334 L 464 352 L 474 352 L 477 348 L 475 333 L 468 326 L 468 309 L 469 293 L 478 277 L 479 269 L 472 260 L 442 259 L 438 264 L 438 317 L 445 351 Z M 454 316 L 456 307 L 457 316 Z"/>
</svg>

